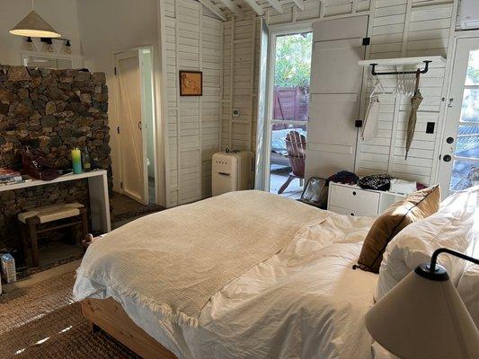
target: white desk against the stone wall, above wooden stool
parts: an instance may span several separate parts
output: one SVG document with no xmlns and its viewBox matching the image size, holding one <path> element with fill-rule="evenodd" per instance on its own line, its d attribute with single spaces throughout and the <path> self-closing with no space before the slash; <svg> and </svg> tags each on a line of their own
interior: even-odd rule
<svg viewBox="0 0 479 359">
<path fill-rule="evenodd" d="M 90 213 L 92 215 L 92 230 L 102 233 L 111 232 L 110 199 L 108 197 L 108 180 L 106 170 L 94 170 L 80 174 L 65 174 L 55 180 L 31 180 L 0 186 L 0 192 L 7 190 L 29 188 L 66 182 L 68 180 L 88 179 L 90 192 Z"/>
</svg>

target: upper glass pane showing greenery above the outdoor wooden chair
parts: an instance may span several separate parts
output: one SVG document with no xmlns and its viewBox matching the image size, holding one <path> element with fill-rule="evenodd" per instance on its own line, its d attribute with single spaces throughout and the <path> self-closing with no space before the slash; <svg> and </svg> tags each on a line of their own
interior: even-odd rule
<svg viewBox="0 0 479 359">
<path fill-rule="evenodd" d="M 313 33 L 279 36 L 276 39 L 273 118 L 307 121 Z"/>
</svg>

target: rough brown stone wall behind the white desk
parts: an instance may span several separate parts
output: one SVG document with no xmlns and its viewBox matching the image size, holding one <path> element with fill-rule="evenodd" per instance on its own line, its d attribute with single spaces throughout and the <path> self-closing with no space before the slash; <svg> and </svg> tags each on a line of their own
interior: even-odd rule
<svg viewBox="0 0 479 359">
<path fill-rule="evenodd" d="M 86 146 L 93 168 L 111 173 L 105 83 L 102 73 L 0 66 L 0 166 L 20 169 L 31 145 L 69 169 L 71 149 Z M 0 192 L 0 250 L 21 247 L 18 213 L 72 201 L 89 206 L 85 180 Z"/>
</svg>

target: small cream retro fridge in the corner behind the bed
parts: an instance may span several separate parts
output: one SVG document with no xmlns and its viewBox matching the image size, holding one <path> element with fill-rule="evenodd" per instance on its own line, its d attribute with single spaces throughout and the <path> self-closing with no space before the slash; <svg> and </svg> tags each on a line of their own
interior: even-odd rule
<svg viewBox="0 0 479 359">
<path fill-rule="evenodd" d="M 253 153 L 233 151 L 213 154 L 211 181 L 213 196 L 253 188 Z"/>
</svg>

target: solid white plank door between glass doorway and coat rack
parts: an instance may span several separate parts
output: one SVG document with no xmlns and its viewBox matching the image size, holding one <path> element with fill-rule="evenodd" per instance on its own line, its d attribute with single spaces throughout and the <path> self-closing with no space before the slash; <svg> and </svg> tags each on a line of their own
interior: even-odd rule
<svg viewBox="0 0 479 359">
<path fill-rule="evenodd" d="M 354 171 L 368 16 L 313 25 L 306 180 Z"/>
</svg>

